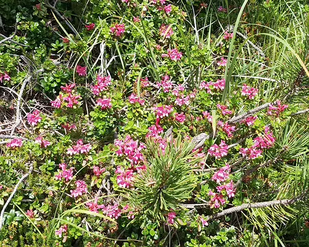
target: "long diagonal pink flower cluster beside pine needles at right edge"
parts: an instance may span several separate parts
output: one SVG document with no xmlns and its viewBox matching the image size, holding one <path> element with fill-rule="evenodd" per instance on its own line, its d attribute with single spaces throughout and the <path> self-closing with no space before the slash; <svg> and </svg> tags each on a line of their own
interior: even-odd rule
<svg viewBox="0 0 309 247">
<path fill-rule="evenodd" d="M 250 148 L 240 148 L 240 154 L 242 156 L 247 156 L 249 159 L 255 159 L 262 156 L 263 149 L 271 148 L 275 143 L 275 137 L 273 137 L 273 132 L 268 126 L 264 129 L 264 136 L 255 137 L 253 139 L 253 145 Z"/>
</svg>

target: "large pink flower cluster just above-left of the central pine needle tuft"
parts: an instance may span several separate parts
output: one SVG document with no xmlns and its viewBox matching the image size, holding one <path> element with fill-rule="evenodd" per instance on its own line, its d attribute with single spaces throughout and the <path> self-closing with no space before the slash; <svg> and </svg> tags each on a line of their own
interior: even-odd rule
<svg viewBox="0 0 309 247">
<path fill-rule="evenodd" d="M 115 140 L 115 146 L 119 148 L 119 150 L 116 151 L 116 154 L 118 156 L 126 156 L 132 166 L 144 161 L 144 156 L 141 154 L 141 150 L 146 148 L 146 145 L 143 143 L 139 144 L 138 141 L 134 141 L 129 135 L 126 136 L 124 141 Z"/>
</svg>

